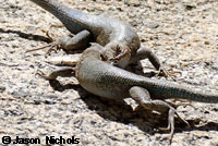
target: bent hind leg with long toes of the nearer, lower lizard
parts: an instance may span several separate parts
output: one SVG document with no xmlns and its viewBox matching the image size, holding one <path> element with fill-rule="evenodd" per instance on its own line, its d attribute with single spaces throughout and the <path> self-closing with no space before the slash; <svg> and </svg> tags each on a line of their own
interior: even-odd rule
<svg viewBox="0 0 218 146">
<path fill-rule="evenodd" d="M 185 122 L 189 125 L 189 123 L 185 120 L 183 120 L 177 113 L 175 109 L 171 107 L 169 104 L 162 100 L 152 100 L 148 90 L 146 90 L 145 88 L 140 87 L 140 86 L 133 86 L 132 88 L 130 88 L 129 93 L 130 93 L 130 96 L 140 106 L 142 106 L 145 109 L 155 110 L 160 113 L 168 111 L 168 127 L 164 127 L 164 129 L 160 127 L 160 130 L 167 130 L 167 131 L 170 130 L 169 135 L 166 136 L 170 141 L 172 139 L 172 136 L 174 133 L 174 114 L 177 114 L 179 119 L 181 119 L 183 122 Z"/>
</svg>

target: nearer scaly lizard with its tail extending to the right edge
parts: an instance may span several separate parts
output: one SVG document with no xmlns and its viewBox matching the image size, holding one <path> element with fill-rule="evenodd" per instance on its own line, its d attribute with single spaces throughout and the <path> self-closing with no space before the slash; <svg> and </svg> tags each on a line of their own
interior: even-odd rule
<svg viewBox="0 0 218 146">
<path fill-rule="evenodd" d="M 46 80 L 57 80 L 58 76 L 73 76 L 87 92 L 112 100 L 123 100 L 131 97 L 144 109 L 168 112 L 168 138 L 171 141 L 174 133 L 174 114 L 179 117 L 174 107 L 166 99 L 186 99 L 199 102 L 217 104 L 218 95 L 194 90 L 191 87 L 169 81 L 158 81 L 134 74 L 121 68 L 102 61 L 101 47 L 93 44 L 84 50 L 75 68 L 57 70 L 49 75 L 43 72 L 37 74 Z M 189 123 L 183 120 L 187 125 Z M 164 130 L 164 129 L 162 129 Z"/>
</svg>

